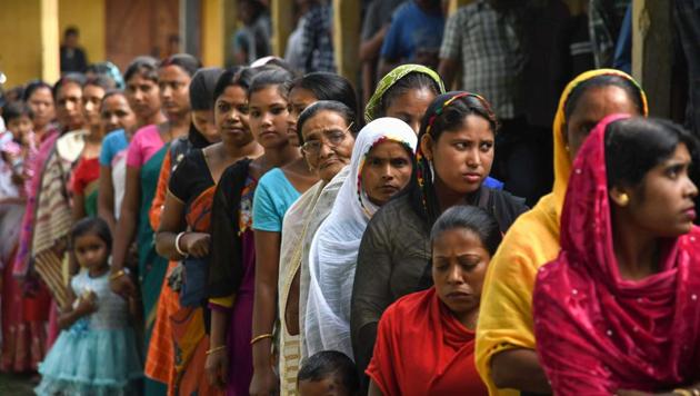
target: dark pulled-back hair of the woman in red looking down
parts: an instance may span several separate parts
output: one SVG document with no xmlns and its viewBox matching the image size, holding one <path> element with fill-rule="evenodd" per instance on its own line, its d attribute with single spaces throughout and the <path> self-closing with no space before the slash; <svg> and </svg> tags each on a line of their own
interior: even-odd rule
<svg viewBox="0 0 700 396">
<path fill-rule="evenodd" d="M 440 215 L 430 231 L 430 244 L 434 244 L 444 231 L 452 229 L 473 232 L 491 256 L 496 254 L 502 239 L 498 221 L 488 211 L 476 206 L 458 205 Z"/>
</svg>

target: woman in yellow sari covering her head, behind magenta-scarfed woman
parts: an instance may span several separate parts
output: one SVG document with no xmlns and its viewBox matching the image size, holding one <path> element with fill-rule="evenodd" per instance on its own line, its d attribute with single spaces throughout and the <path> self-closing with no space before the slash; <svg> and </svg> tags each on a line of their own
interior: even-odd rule
<svg viewBox="0 0 700 396">
<path fill-rule="evenodd" d="M 608 115 L 647 116 L 647 97 L 619 70 L 587 71 L 564 89 L 553 125 L 554 187 L 508 230 L 486 275 L 477 326 L 477 369 L 491 395 L 551 393 L 534 350 L 532 290 L 559 254 L 559 218 L 572 158 Z"/>
</svg>

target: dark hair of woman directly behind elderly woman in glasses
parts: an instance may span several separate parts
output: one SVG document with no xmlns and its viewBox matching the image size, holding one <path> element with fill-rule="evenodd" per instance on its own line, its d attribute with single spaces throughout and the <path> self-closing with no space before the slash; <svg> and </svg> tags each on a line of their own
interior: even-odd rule
<svg viewBox="0 0 700 396">
<path fill-rule="evenodd" d="M 317 100 L 336 100 L 358 113 L 358 97 L 348 79 L 326 71 L 310 72 L 289 85 L 289 92 L 294 88 L 302 88 L 316 97 Z"/>
</svg>

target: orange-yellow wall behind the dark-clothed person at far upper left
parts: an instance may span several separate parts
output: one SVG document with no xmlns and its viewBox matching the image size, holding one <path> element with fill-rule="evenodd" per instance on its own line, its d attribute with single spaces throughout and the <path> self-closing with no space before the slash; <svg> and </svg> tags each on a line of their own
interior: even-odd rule
<svg viewBox="0 0 700 396">
<path fill-rule="evenodd" d="M 11 1 L 11 0 L 10 0 Z M 106 0 L 59 0 L 59 37 L 69 26 L 80 30 L 80 44 L 88 53 L 88 62 L 104 59 L 104 1 Z"/>
</svg>

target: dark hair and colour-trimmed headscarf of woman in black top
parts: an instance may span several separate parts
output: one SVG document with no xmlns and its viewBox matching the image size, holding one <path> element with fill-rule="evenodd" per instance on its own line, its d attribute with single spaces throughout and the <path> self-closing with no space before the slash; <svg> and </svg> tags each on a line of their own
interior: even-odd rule
<svg viewBox="0 0 700 396">
<path fill-rule="evenodd" d="M 458 97 L 458 98 L 454 98 Z M 444 103 L 451 100 L 447 106 Z M 440 216 L 440 205 L 436 195 L 432 179 L 431 164 L 422 154 L 420 141 L 423 136 L 430 135 L 432 141 L 438 141 L 444 131 L 456 131 L 464 126 L 467 116 L 478 116 L 489 122 L 493 135 L 498 130 L 498 120 L 491 109 L 491 105 L 483 98 L 469 92 L 448 92 L 438 96 L 423 116 L 418 132 L 418 149 L 413 175 L 407 189 L 411 196 L 413 210 L 428 222 L 430 227 Z M 430 127 L 430 133 L 428 133 Z"/>
</svg>

